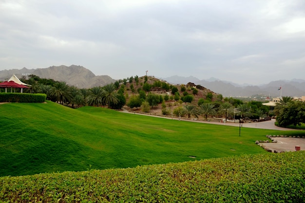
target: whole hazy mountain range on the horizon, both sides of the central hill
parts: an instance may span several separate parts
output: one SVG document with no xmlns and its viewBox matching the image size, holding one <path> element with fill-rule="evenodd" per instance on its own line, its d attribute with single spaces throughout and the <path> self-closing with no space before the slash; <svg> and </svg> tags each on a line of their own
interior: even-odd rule
<svg viewBox="0 0 305 203">
<path fill-rule="evenodd" d="M 0 81 L 7 80 L 13 74 L 19 78 L 21 78 L 22 75 L 34 74 L 40 78 L 51 78 L 57 81 L 65 81 L 68 85 L 76 86 L 77 88 L 92 88 L 115 82 L 115 79 L 108 75 L 95 75 L 90 70 L 76 65 L 71 65 L 69 67 L 62 65 L 38 69 L 22 68 L 20 70 L 4 70 L 0 71 Z M 305 80 L 303 79 L 270 81 L 267 84 L 258 86 L 253 86 L 250 84 L 240 85 L 230 81 L 222 81 L 217 78 L 200 80 L 193 76 L 182 77 L 174 75 L 162 79 L 172 84 L 187 84 L 192 82 L 196 85 L 201 85 L 207 89 L 210 89 L 213 92 L 222 94 L 225 97 L 246 97 L 253 95 L 278 97 L 281 96 L 281 93 L 282 96 L 305 95 Z M 279 87 L 281 87 L 281 91 L 278 90 Z"/>
</svg>

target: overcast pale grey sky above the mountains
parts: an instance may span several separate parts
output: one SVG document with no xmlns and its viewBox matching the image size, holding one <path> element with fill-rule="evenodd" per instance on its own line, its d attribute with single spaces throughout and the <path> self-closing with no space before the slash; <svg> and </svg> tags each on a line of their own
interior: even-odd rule
<svg viewBox="0 0 305 203">
<path fill-rule="evenodd" d="M 305 0 L 0 0 L 0 70 L 305 79 Z"/>
</svg>

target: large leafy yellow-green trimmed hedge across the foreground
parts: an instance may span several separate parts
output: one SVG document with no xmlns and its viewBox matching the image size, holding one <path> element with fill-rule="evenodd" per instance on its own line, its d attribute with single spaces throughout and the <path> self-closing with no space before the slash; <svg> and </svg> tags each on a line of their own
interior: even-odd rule
<svg viewBox="0 0 305 203">
<path fill-rule="evenodd" d="M 0 177 L 0 202 L 304 203 L 305 151 Z"/>
</svg>

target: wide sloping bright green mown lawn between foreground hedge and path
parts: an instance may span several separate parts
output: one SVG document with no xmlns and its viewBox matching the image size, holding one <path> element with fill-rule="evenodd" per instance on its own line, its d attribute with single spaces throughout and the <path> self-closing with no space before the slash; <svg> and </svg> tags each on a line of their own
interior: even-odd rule
<svg viewBox="0 0 305 203">
<path fill-rule="evenodd" d="M 70 109 L 53 102 L 0 105 L 0 176 L 126 168 L 241 154 L 276 130 L 242 129 L 127 114 Z M 289 131 L 303 133 L 304 131 Z M 189 156 L 196 157 L 190 158 Z"/>
</svg>

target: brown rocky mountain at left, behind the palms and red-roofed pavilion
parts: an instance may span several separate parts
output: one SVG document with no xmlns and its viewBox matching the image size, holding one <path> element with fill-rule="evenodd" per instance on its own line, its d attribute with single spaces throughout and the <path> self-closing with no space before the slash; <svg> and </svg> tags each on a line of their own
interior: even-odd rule
<svg viewBox="0 0 305 203">
<path fill-rule="evenodd" d="M 95 75 L 90 70 L 82 67 L 71 65 L 67 66 L 51 66 L 49 68 L 38 68 L 38 69 L 12 69 L 0 71 L 0 80 L 7 80 L 13 74 L 19 78 L 22 75 L 34 74 L 40 78 L 50 78 L 57 81 L 65 81 L 70 86 L 77 88 L 92 88 L 95 86 L 104 86 L 106 84 L 115 82 L 108 75 Z"/>
</svg>

